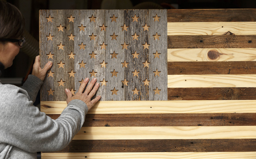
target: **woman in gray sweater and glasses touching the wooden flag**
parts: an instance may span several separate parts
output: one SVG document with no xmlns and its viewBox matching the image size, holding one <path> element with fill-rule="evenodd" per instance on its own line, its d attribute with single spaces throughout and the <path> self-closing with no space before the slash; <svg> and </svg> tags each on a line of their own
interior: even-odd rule
<svg viewBox="0 0 256 159">
<path fill-rule="evenodd" d="M 24 27 L 20 11 L 0 0 L 0 69 L 10 67 L 19 53 L 25 42 Z M 58 119 L 52 120 L 33 106 L 51 67 L 49 61 L 41 69 L 37 56 L 32 75 L 22 87 L 0 83 L 0 159 L 35 159 L 38 151 L 63 149 L 82 127 L 85 114 L 101 98 L 97 96 L 91 100 L 99 83 L 94 78 L 84 90 L 89 82 L 86 78 L 74 96 L 65 89 L 68 105 Z"/>
</svg>

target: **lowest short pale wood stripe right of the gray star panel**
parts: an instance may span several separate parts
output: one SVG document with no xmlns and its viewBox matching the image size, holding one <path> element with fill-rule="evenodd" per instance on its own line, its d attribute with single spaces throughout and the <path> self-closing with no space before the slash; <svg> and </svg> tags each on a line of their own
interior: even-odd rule
<svg viewBox="0 0 256 159">
<path fill-rule="evenodd" d="M 168 75 L 168 88 L 256 87 L 256 75 Z"/>
</svg>

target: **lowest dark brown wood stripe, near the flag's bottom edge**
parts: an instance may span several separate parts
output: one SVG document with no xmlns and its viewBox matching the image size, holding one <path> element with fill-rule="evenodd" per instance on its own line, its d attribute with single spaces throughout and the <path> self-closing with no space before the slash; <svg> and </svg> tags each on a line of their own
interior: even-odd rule
<svg viewBox="0 0 256 159">
<path fill-rule="evenodd" d="M 245 152 L 256 151 L 256 139 L 72 140 L 61 151 L 84 152 Z"/>
</svg>

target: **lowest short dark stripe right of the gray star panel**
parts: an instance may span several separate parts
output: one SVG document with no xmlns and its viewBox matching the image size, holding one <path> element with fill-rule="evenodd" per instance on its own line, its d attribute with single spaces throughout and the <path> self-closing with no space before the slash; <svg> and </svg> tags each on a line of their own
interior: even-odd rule
<svg viewBox="0 0 256 159">
<path fill-rule="evenodd" d="M 255 87 L 168 88 L 168 100 L 252 100 Z"/>
</svg>

